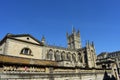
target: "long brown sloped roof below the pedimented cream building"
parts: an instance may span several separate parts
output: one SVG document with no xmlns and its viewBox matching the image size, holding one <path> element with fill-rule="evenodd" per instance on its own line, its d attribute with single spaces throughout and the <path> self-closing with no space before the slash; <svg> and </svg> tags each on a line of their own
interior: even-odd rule
<svg viewBox="0 0 120 80">
<path fill-rule="evenodd" d="M 57 62 L 39 59 L 30 59 L 0 54 L 0 63 L 26 64 L 38 66 L 57 66 Z"/>
</svg>

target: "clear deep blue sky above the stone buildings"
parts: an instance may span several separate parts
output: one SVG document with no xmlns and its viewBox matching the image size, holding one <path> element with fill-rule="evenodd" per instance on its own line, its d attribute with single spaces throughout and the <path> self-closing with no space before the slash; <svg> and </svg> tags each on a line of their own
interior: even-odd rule
<svg viewBox="0 0 120 80">
<path fill-rule="evenodd" d="M 0 39 L 28 33 L 66 46 L 72 25 L 80 30 L 83 47 L 89 40 L 97 54 L 120 50 L 120 0 L 0 0 Z"/>
</svg>

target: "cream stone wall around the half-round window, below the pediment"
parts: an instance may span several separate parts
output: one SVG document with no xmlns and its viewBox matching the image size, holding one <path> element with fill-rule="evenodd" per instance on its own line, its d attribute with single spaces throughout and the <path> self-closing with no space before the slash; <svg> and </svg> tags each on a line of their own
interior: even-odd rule
<svg viewBox="0 0 120 80">
<path fill-rule="evenodd" d="M 17 57 L 25 57 L 25 58 L 34 58 L 34 59 L 42 59 L 42 47 L 38 45 L 33 45 L 30 43 L 20 42 L 17 40 L 8 39 L 6 54 Z M 31 50 L 32 55 L 23 55 L 21 54 L 21 50 L 23 48 L 29 48 Z"/>
</svg>

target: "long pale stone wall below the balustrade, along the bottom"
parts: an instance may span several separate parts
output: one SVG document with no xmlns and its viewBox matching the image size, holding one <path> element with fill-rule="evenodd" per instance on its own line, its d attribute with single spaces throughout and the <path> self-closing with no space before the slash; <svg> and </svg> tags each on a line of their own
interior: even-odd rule
<svg viewBox="0 0 120 80">
<path fill-rule="evenodd" d="M 83 70 L 79 73 L 1 72 L 0 80 L 103 80 L 105 71 Z M 107 71 L 110 75 L 111 71 Z"/>
</svg>

